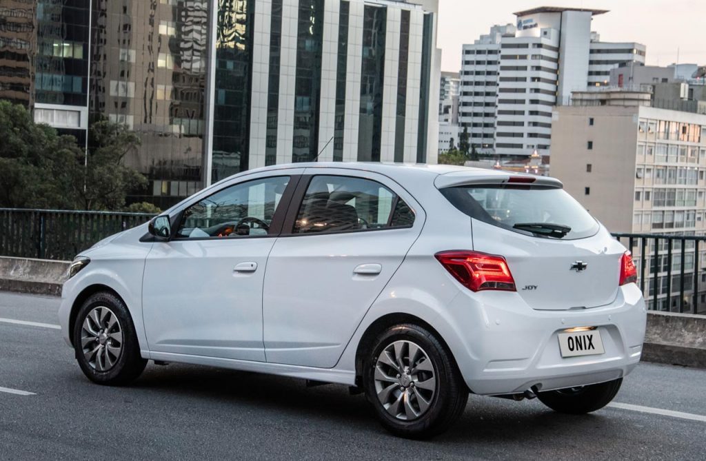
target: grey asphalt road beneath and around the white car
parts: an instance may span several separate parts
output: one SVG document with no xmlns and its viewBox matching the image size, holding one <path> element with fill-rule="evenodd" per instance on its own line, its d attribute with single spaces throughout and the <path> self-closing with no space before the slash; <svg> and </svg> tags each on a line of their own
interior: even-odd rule
<svg viewBox="0 0 706 461">
<path fill-rule="evenodd" d="M 640 364 L 614 401 L 636 407 L 580 417 L 472 396 L 448 433 L 417 442 L 385 433 L 341 385 L 177 364 L 127 388 L 92 384 L 59 330 L 6 321 L 56 325 L 58 308 L 0 292 L 0 388 L 33 393 L 0 391 L 0 460 L 706 458 L 706 370 Z"/>
</svg>

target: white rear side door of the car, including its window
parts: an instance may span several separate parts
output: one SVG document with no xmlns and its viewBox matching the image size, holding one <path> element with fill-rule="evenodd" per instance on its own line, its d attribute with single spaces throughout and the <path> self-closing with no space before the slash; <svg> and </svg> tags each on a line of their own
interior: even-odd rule
<svg viewBox="0 0 706 461">
<path fill-rule="evenodd" d="M 424 210 L 386 176 L 306 169 L 265 273 L 268 362 L 335 366 L 423 224 Z"/>
</svg>

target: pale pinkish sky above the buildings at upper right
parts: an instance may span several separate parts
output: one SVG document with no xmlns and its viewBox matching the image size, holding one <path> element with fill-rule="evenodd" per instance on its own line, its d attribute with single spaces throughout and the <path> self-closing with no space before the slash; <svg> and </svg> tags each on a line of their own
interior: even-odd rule
<svg viewBox="0 0 706 461">
<path fill-rule="evenodd" d="M 676 62 L 677 49 L 678 62 L 706 65 L 706 0 L 439 0 L 441 70 L 459 71 L 462 44 L 537 6 L 610 10 L 593 18 L 603 42 L 645 44 L 647 65 Z"/>
</svg>

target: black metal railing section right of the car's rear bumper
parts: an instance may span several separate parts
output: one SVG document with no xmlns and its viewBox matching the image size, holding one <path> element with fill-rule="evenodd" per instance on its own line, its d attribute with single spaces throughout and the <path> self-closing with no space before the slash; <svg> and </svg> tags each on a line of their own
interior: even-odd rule
<svg viewBox="0 0 706 461">
<path fill-rule="evenodd" d="M 704 236 L 614 233 L 633 253 L 648 309 L 706 314 Z"/>
</svg>

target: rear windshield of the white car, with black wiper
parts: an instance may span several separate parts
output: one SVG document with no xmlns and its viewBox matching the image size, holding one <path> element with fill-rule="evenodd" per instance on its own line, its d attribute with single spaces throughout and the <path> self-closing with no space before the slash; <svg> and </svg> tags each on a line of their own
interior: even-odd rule
<svg viewBox="0 0 706 461">
<path fill-rule="evenodd" d="M 599 224 L 561 188 L 457 186 L 441 189 L 453 205 L 477 220 L 513 232 L 563 240 L 596 234 Z"/>
</svg>

